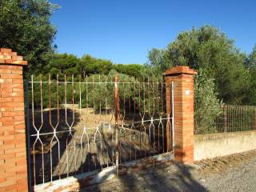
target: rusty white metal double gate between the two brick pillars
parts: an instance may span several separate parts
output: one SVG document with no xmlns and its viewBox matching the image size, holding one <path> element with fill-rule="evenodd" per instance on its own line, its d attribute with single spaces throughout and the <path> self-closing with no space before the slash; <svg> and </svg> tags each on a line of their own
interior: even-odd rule
<svg viewBox="0 0 256 192">
<path fill-rule="evenodd" d="M 26 81 L 31 185 L 173 151 L 173 95 L 173 84 L 122 75 L 32 76 Z"/>
</svg>

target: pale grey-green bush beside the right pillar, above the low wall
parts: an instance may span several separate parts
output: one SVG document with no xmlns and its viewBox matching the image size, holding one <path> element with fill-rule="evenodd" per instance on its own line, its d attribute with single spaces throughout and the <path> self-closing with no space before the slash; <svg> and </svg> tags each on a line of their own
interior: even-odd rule
<svg viewBox="0 0 256 192">
<path fill-rule="evenodd" d="M 214 79 L 207 78 L 202 69 L 194 77 L 194 120 L 196 133 L 214 133 L 214 118 L 222 112 Z"/>
</svg>

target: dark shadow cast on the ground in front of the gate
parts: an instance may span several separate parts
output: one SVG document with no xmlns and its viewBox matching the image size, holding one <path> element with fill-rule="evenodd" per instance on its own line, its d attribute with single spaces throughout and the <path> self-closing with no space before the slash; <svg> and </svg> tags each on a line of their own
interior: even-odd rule
<svg viewBox="0 0 256 192">
<path fill-rule="evenodd" d="M 193 178 L 193 170 L 178 162 L 128 168 L 109 181 L 80 191 L 208 191 Z"/>
</svg>

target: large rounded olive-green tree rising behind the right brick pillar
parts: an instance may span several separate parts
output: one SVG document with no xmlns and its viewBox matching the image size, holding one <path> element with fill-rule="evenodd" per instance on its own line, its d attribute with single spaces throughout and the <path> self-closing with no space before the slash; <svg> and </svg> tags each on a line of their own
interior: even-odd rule
<svg viewBox="0 0 256 192">
<path fill-rule="evenodd" d="M 190 66 L 204 70 L 208 78 L 214 78 L 219 98 L 230 104 L 246 103 L 246 95 L 250 90 L 250 74 L 246 70 L 245 54 L 241 54 L 234 46 L 234 41 L 213 26 L 202 26 L 199 29 L 178 34 L 166 50 L 155 51 L 166 62 L 166 66 Z M 150 63 L 157 65 L 151 57 Z M 161 63 L 161 62 L 160 62 Z"/>
</svg>

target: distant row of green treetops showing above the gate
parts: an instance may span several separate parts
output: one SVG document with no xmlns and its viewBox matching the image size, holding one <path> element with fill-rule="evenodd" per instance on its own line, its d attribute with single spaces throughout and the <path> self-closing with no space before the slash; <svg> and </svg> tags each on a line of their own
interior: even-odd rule
<svg viewBox="0 0 256 192">
<path fill-rule="evenodd" d="M 51 74 L 56 78 L 57 74 L 66 74 L 85 79 L 93 74 L 108 75 L 111 70 L 119 74 L 126 74 L 134 78 L 142 78 L 146 68 L 139 64 L 114 65 L 109 60 L 93 58 L 85 54 L 82 58 L 77 58 L 74 54 L 54 54 L 50 62 L 41 71 L 42 74 Z M 103 76 L 102 76 L 103 77 Z M 148 77 L 145 74 L 145 77 Z"/>
</svg>

